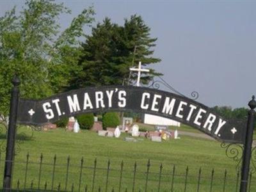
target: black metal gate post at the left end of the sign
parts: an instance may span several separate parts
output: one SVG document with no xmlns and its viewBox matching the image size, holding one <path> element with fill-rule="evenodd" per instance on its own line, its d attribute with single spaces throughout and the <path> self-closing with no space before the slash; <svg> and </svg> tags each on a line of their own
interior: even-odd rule
<svg viewBox="0 0 256 192">
<path fill-rule="evenodd" d="M 16 134 L 16 120 L 19 102 L 19 77 L 15 76 L 12 80 L 13 88 L 10 100 L 10 114 L 9 114 L 9 126 L 8 126 L 8 138 L 6 145 L 6 157 L 4 166 L 4 191 L 11 191 L 12 186 L 12 170 L 14 159 L 14 146 L 15 146 L 15 134 Z"/>
</svg>

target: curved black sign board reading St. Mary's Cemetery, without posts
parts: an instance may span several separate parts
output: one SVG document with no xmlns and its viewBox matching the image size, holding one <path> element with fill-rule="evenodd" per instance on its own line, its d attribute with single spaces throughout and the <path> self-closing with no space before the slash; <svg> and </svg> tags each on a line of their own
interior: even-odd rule
<svg viewBox="0 0 256 192">
<path fill-rule="evenodd" d="M 105 111 L 132 111 L 172 118 L 216 140 L 243 143 L 244 127 L 226 120 L 195 100 L 136 86 L 100 86 L 60 93 L 44 100 L 20 99 L 17 122 L 44 125 L 64 116 Z"/>
</svg>

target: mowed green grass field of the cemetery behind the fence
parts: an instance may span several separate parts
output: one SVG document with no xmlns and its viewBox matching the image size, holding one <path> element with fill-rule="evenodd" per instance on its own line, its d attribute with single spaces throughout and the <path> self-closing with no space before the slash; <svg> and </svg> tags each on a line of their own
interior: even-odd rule
<svg viewBox="0 0 256 192">
<path fill-rule="evenodd" d="M 191 128 L 182 129 L 189 131 Z M 22 127 L 18 132 L 29 135 L 31 129 Z M 65 129 L 34 131 L 31 139 L 16 144 L 19 152 L 15 156 L 13 186 L 44 189 L 46 183 L 47 189 L 55 191 L 58 187 L 64 191 L 66 188 L 67 191 L 84 191 L 86 186 L 88 191 L 99 191 L 99 187 L 102 191 L 119 191 L 119 188 L 120 191 L 145 191 L 145 188 L 158 191 L 160 186 L 159 191 L 184 191 L 185 188 L 197 191 L 199 184 L 199 191 L 236 191 L 237 162 L 228 159 L 220 142 L 189 136 L 161 143 L 145 138 L 129 142 L 124 141 L 127 136 L 123 133 L 120 138 L 107 138 L 93 131 L 74 133 Z M 3 159 L 4 154 L 1 155 L 2 173 Z M 147 166 L 148 159 L 150 166 Z M 250 188 L 256 191 L 254 175 Z"/>
</svg>

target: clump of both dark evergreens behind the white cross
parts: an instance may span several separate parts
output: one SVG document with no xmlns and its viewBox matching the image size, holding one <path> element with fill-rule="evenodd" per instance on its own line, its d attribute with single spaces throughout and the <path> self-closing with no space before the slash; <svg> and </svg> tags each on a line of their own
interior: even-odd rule
<svg viewBox="0 0 256 192">
<path fill-rule="evenodd" d="M 124 26 L 113 24 L 106 18 L 92 29 L 83 44 L 83 56 L 79 61 L 81 67 L 70 84 L 72 88 L 109 84 L 129 84 L 136 74 L 129 68 L 143 66 L 161 61 L 152 57 L 156 38 L 150 38 L 150 28 L 138 15 L 125 19 Z M 141 78 L 147 83 L 157 74 L 150 69 L 150 74 Z"/>
</svg>

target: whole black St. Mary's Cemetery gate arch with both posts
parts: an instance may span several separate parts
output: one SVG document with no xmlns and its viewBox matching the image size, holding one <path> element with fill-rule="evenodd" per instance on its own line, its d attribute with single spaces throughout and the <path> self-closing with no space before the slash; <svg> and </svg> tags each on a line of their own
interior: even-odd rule
<svg viewBox="0 0 256 192">
<path fill-rule="evenodd" d="M 249 102 L 247 127 L 231 120 L 225 120 L 210 108 L 187 97 L 151 88 L 134 86 L 102 86 L 82 88 L 60 93 L 44 100 L 19 98 L 19 78 L 13 79 L 10 102 L 10 122 L 4 166 L 4 191 L 12 191 L 12 170 L 16 124 L 44 125 L 64 116 L 98 111 L 134 111 L 172 118 L 190 125 L 216 140 L 227 143 L 242 143 L 243 164 L 241 168 L 240 191 L 245 192 L 252 154 L 253 126 L 256 101 Z"/>
</svg>

